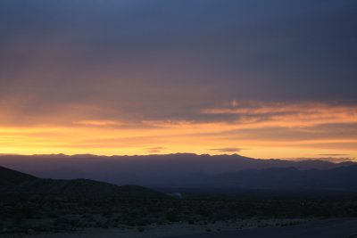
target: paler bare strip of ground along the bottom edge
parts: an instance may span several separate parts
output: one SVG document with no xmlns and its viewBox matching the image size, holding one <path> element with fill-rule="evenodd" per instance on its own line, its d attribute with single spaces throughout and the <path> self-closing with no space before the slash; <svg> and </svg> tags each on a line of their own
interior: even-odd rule
<svg viewBox="0 0 357 238">
<path fill-rule="evenodd" d="M 300 224 L 299 224 L 300 223 Z M 297 224 L 297 225 L 294 225 Z M 118 228 L 90 228 L 73 233 L 23 234 L 4 237 L 21 238 L 352 238 L 357 234 L 357 218 L 333 218 L 303 221 L 301 219 L 243 220 L 237 223 L 215 223 Z"/>
</svg>

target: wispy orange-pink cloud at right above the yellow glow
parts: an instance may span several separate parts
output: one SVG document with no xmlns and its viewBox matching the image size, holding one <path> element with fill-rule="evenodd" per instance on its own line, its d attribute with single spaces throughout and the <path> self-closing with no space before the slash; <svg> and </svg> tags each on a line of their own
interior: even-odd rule
<svg viewBox="0 0 357 238">
<path fill-rule="evenodd" d="M 357 123 L 357 106 L 330 103 L 248 102 L 235 107 L 205 109 L 206 115 L 236 116 L 238 123 L 274 127 L 307 127 L 332 123 Z M 223 117 L 222 117 L 223 118 Z"/>
</svg>

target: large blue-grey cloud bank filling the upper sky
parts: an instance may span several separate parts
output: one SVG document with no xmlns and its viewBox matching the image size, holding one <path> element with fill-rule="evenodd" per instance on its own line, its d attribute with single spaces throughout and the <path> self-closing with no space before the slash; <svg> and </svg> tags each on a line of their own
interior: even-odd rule
<svg viewBox="0 0 357 238">
<path fill-rule="evenodd" d="M 356 10 L 322 0 L 3 0 L 0 105 L 6 120 L 36 124 L 66 113 L 233 120 L 200 113 L 233 99 L 355 104 Z"/>
</svg>

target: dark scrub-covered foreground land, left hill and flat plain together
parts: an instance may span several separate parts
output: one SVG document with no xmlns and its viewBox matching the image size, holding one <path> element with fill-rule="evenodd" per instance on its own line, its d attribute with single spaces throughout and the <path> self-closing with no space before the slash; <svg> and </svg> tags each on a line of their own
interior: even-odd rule
<svg viewBox="0 0 357 238">
<path fill-rule="evenodd" d="M 357 217 L 357 194 L 183 193 L 177 199 L 140 186 L 49 180 L 0 168 L 0 231 L 62 232 L 86 227 L 187 222 L 207 225 L 245 218 Z M 8 177 L 8 179 L 6 179 Z"/>
</svg>

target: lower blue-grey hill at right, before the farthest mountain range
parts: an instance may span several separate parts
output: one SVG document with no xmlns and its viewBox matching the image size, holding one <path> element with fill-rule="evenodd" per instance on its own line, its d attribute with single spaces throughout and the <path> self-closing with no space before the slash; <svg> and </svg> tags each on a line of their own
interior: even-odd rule
<svg viewBox="0 0 357 238">
<path fill-rule="evenodd" d="M 250 189 L 357 190 L 357 166 L 304 171 L 297 168 L 251 169 L 208 176 L 201 181 L 201 185 Z"/>
</svg>

